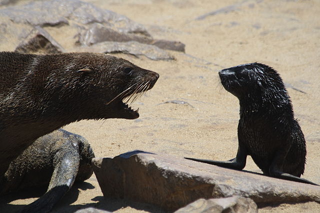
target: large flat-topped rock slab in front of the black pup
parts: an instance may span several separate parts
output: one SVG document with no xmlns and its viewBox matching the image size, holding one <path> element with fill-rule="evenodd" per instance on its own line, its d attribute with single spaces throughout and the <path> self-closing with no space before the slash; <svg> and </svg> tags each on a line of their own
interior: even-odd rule
<svg viewBox="0 0 320 213">
<path fill-rule="evenodd" d="M 143 151 L 95 158 L 104 197 L 129 199 L 176 211 L 200 199 L 241 196 L 257 204 L 320 202 L 320 187 L 225 169 Z"/>
</svg>

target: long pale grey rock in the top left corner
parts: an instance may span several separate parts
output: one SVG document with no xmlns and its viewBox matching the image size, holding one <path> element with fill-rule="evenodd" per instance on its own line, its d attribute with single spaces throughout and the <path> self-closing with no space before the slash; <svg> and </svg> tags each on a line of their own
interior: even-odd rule
<svg viewBox="0 0 320 213">
<path fill-rule="evenodd" d="M 149 36 L 141 24 L 124 15 L 79 0 L 35 1 L 1 9 L 0 15 L 9 17 L 15 23 L 26 23 L 32 26 L 69 24 L 69 21 L 83 25 L 103 23 L 120 32 L 135 32 Z"/>
</svg>

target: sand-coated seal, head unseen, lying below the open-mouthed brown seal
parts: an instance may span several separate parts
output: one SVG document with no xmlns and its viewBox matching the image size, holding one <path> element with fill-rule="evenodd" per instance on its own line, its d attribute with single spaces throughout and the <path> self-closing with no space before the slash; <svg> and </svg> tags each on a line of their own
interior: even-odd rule
<svg viewBox="0 0 320 213">
<path fill-rule="evenodd" d="M 0 195 L 44 189 L 46 193 L 23 213 L 49 212 L 74 182 L 93 173 L 93 151 L 81 136 L 59 129 L 38 138 L 9 165 L 0 181 Z"/>
</svg>

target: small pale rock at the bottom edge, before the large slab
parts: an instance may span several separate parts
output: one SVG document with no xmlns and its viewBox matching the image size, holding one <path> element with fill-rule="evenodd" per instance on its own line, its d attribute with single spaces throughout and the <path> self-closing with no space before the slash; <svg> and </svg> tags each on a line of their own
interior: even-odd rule
<svg viewBox="0 0 320 213">
<path fill-rule="evenodd" d="M 174 213 L 257 213 L 256 204 L 248 198 L 232 196 L 217 199 L 199 199 Z"/>
</svg>

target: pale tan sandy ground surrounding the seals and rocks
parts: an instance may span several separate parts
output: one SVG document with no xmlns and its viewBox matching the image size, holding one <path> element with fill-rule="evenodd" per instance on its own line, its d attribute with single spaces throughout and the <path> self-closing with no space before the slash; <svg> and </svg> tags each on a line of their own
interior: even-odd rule
<svg viewBox="0 0 320 213">
<path fill-rule="evenodd" d="M 320 183 L 320 1 L 87 1 L 145 25 L 154 38 L 185 43 L 190 55 L 172 51 L 176 60 L 171 61 L 118 55 L 158 72 L 160 78 L 151 91 L 133 104 L 140 108 L 140 118 L 81 121 L 64 128 L 87 138 L 97 157 L 114 157 L 139 149 L 215 160 L 233 158 L 237 151 L 238 100 L 221 88 L 217 71 L 258 61 L 278 70 L 288 85 L 295 117 L 307 142 L 303 178 Z M 196 20 L 200 15 L 235 3 L 242 3 L 235 11 Z M 54 35 L 62 46 L 68 45 L 58 32 Z M 161 104 L 168 100 L 183 100 L 189 105 Z M 260 172 L 250 158 L 245 170 Z M 35 199 L 14 200 L 5 210 L 17 210 Z M 150 205 L 104 199 L 94 175 L 75 186 L 53 212 L 72 212 L 84 207 L 121 213 L 159 211 Z M 305 203 L 259 211 L 318 209 L 319 204 Z"/>
</svg>

